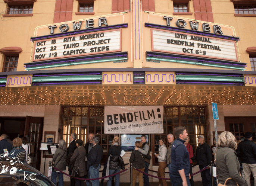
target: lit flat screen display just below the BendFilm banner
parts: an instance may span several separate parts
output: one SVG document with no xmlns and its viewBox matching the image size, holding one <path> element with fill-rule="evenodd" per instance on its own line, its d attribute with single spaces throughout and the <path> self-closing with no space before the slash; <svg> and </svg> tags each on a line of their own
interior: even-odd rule
<svg viewBox="0 0 256 186">
<path fill-rule="evenodd" d="M 149 135 L 146 134 L 147 142 L 149 142 Z M 121 134 L 121 147 L 124 151 L 133 151 L 135 149 L 135 142 L 140 141 L 141 134 Z"/>
</svg>

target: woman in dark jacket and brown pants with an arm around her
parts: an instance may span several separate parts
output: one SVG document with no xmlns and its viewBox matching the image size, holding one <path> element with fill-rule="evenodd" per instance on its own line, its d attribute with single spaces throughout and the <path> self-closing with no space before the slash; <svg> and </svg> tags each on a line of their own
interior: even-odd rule
<svg viewBox="0 0 256 186">
<path fill-rule="evenodd" d="M 136 141 L 135 147 L 142 148 L 142 142 Z M 145 166 L 146 166 L 145 162 L 144 162 L 145 157 L 146 157 L 146 155 L 142 155 L 140 153 L 140 151 L 134 150 L 131 153 L 131 157 L 130 157 L 129 161 L 130 161 L 130 163 L 132 163 L 132 166 L 134 168 L 144 171 Z M 139 179 L 139 185 L 143 186 L 143 173 L 141 173 L 135 169 L 132 169 L 132 185 L 135 185 L 137 177 Z"/>
</svg>

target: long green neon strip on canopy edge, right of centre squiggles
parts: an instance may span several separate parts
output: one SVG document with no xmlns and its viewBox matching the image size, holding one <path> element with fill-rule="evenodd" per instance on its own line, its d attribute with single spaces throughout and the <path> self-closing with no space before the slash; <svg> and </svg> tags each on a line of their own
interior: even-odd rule
<svg viewBox="0 0 256 186">
<path fill-rule="evenodd" d="M 244 76 L 238 74 L 176 73 L 177 84 L 244 85 Z"/>
</svg>

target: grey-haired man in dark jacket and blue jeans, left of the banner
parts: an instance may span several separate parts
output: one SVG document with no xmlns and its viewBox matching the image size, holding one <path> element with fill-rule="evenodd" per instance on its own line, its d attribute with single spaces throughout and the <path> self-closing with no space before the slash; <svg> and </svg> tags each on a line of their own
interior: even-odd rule
<svg viewBox="0 0 256 186">
<path fill-rule="evenodd" d="M 103 158 L 103 148 L 99 145 L 100 138 L 93 137 L 93 148 L 88 154 L 87 169 L 90 172 L 90 178 L 99 178 L 100 163 Z M 91 180 L 92 186 L 99 186 L 100 180 Z"/>
</svg>

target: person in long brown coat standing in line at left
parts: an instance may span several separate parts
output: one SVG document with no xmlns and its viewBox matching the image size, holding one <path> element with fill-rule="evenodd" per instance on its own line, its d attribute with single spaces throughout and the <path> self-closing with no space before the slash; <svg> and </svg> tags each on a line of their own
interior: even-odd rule
<svg viewBox="0 0 256 186">
<path fill-rule="evenodd" d="M 76 140 L 75 143 L 77 145 L 77 148 L 75 149 L 74 154 L 70 158 L 70 161 L 73 161 L 74 159 L 76 159 L 71 176 L 84 177 L 87 174 L 87 169 L 85 167 L 86 150 L 82 146 L 82 144 L 83 144 L 82 140 Z M 79 176 L 75 176 L 74 170 L 79 170 Z M 75 185 L 76 186 L 84 186 L 84 181 L 75 179 Z"/>
</svg>

